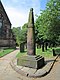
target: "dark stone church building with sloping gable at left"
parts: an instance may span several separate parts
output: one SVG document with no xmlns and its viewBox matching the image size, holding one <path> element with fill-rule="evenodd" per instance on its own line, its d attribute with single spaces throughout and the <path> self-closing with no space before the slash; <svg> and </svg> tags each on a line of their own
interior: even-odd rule
<svg viewBox="0 0 60 80">
<path fill-rule="evenodd" d="M 1 47 L 16 47 L 16 40 L 11 30 L 11 22 L 0 0 L 0 48 Z"/>
</svg>

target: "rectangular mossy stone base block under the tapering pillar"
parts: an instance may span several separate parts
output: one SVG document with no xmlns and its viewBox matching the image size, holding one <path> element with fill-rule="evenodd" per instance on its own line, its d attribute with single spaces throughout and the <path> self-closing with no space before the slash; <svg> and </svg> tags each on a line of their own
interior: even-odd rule
<svg viewBox="0 0 60 80">
<path fill-rule="evenodd" d="M 44 57 L 42 56 L 22 56 L 17 59 L 17 65 L 40 69 L 44 66 Z"/>
</svg>

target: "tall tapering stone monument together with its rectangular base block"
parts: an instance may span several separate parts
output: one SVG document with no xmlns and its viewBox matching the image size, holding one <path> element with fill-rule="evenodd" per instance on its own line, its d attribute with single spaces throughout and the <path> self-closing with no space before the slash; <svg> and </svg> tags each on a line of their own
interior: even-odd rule
<svg viewBox="0 0 60 80">
<path fill-rule="evenodd" d="M 35 51 L 35 28 L 33 8 L 30 9 L 27 31 L 27 55 L 17 59 L 17 64 L 30 68 L 39 69 L 44 65 L 44 57 L 36 56 Z"/>
</svg>

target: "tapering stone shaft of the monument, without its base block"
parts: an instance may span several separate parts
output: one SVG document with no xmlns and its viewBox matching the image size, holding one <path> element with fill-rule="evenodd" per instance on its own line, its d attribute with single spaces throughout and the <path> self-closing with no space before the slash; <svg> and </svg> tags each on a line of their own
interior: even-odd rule
<svg viewBox="0 0 60 80">
<path fill-rule="evenodd" d="M 27 54 L 35 55 L 35 28 L 33 8 L 30 9 L 27 31 Z"/>
</svg>

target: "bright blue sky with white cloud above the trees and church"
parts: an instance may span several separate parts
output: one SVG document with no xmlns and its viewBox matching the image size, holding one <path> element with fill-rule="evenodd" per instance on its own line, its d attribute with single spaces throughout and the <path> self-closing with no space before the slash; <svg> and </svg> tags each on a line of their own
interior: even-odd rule
<svg viewBox="0 0 60 80">
<path fill-rule="evenodd" d="M 44 10 L 48 0 L 1 0 L 4 9 L 10 19 L 12 27 L 20 27 L 28 22 L 30 8 L 34 9 L 34 19 L 36 14 L 40 15 L 40 10 Z"/>
</svg>

